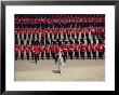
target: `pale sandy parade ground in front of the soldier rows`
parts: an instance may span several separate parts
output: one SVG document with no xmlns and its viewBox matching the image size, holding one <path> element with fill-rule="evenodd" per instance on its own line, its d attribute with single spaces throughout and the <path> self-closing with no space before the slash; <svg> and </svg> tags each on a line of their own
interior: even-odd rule
<svg viewBox="0 0 119 95">
<path fill-rule="evenodd" d="M 15 60 L 15 81 L 105 81 L 105 59 L 68 59 L 58 73 L 53 59 Z"/>
</svg>

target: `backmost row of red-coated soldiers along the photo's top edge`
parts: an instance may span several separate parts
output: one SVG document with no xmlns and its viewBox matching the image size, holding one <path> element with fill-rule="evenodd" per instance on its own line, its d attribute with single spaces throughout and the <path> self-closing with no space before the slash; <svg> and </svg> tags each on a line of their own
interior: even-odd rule
<svg viewBox="0 0 119 95">
<path fill-rule="evenodd" d="M 105 22 L 105 16 L 104 15 L 51 15 L 51 16 L 37 16 L 35 17 L 26 17 L 26 16 L 15 16 L 15 24 L 31 24 L 31 25 L 37 25 L 37 24 L 76 24 L 76 23 L 104 23 Z"/>
</svg>

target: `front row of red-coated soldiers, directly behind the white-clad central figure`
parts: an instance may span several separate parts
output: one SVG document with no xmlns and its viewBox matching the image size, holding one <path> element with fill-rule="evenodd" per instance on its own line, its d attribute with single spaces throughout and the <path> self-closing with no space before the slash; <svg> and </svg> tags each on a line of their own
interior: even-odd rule
<svg viewBox="0 0 119 95">
<path fill-rule="evenodd" d="M 61 50 L 61 51 L 60 51 Z M 70 44 L 47 44 L 47 45 L 39 45 L 39 44 L 15 44 L 15 59 L 17 60 L 18 55 L 21 53 L 21 59 L 24 59 L 24 56 L 27 56 L 27 59 L 29 59 L 30 55 L 32 59 L 39 59 L 41 57 L 42 59 L 47 57 L 48 59 L 55 58 L 55 54 L 58 52 L 64 53 L 65 57 L 72 59 L 74 57 L 79 58 L 80 56 L 84 59 L 88 57 L 88 59 L 91 59 L 91 56 L 93 55 L 93 58 L 96 59 L 97 53 L 100 59 L 103 59 L 104 52 L 105 52 L 105 43 L 96 43 L 93 44 L 88 42 L 88 44 L 82 41 L 81 43 L 77 42 L 74 44 L 72 42 Z M 75 56 L 74 56 L 75 55 Z"/>
</svg>

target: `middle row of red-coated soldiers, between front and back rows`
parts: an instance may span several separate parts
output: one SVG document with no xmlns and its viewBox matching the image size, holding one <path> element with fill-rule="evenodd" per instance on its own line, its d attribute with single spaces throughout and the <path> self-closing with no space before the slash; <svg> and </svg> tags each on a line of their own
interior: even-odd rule
<svg viewBox="0 0 119 95">
<path fill-rule="evenodd" d="M 104 27 L 78 27 L 76 28 L 15 28 L 15 39 L 39 39 L 41 40 L 56 40 L 56 39 L 79 39 L 87 38 L 90 36 L 93 39 L 102 38 L 105 39 L 105 28 Z"/>
</svg>

